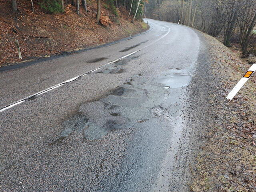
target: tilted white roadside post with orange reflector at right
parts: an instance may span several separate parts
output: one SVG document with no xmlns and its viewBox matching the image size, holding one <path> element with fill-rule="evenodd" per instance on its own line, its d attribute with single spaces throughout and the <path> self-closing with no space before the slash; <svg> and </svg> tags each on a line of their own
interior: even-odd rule
<svg viewBox="0 0 256 192">
<path fill-rule="evenodd" d="M 246 74 L 244 74 L 244 76 L 242 77 L 242 79 L 236 84 L 236 86 L 234 86 L 234 88 L 232 89 L 232 91 L 228 94 L 228 96 L 226 97 L 228 100 L 232 100 L 234 98 L 234 96 L 238 93 L 238 91 L 242 88 L 242 86 L 244 86 L 244 84 L 246 83 L 246 81 L 252 76 L 252 74 L 256 71 L 256 64 L 253 64 L 250 69 L 246 72 Z"/>
</svg>

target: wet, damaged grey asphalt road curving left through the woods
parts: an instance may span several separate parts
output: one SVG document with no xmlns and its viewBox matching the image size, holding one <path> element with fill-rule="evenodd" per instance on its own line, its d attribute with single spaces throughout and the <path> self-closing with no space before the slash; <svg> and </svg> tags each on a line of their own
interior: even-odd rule
<svg viewBox="0 0 256 192">
<path fill-rule="evenodd" d="M 187 190 L 185 109 L 204 40 L 146 21 L 142 34 L 0 72 L 0 191 Z"/>
</svg>

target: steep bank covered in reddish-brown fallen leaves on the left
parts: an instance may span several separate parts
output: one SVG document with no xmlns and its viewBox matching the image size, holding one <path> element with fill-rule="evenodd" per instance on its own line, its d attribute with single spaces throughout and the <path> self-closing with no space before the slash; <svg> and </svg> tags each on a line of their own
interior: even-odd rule
<svg viewBox="0 0 256 192">
<path fill-rule="evenodd" d="M 19 0 L 18 12 L 14 14 L 11 1 L 0 0 L 0 66 L 20 62 L 15 40 L 19 41 L 22 59 L 30 60 L 77 48 L 87 48 L 111 42 L 146 30 L 143 22 L 131 23 L 128 11 L 120 7 L 118 16 L 112 14 L 102 2 L 102 16 L 107 26 L 96 24 L 96 0 L 88 0 L 88 12 L 80 6 L 80 15 L 71 4 L 65 12 L 47 14 L 38 4 L 34 13 L 27 0 Z"/>
</svg>

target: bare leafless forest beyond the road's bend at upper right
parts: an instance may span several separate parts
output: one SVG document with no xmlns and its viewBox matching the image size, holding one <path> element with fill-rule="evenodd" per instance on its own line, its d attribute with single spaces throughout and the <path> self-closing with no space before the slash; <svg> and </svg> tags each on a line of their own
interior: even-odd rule
<svg viewBox="0 0 256 192">
<path fill-rule="evenodd" d="M 150 0 L 147 18 L 174 22 L 256 52 L 256 0 Z"/>
</svg>

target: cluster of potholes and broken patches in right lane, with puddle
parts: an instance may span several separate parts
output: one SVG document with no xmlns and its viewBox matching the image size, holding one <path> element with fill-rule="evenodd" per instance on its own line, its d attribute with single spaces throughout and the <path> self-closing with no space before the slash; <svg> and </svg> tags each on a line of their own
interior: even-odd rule
<svg viewBox="0 0 256 192">
<path fill-rule="evenodd" d="M 95 73 L 124 72 L 125 69 L 118 65 L 125 65 L 131 59 L 133 58 L 120 60 Z M 83 140 L 97 140 L 111 131 L 131 128 L 152 118 L 163 116 L 172 120 L 172 114 L 163 103 L 172 99 L 169 98 L 170 91 L 187 86 L 190 80 L 191 77 L 182 73 L 180 68 L 170 68 L 164 75 L 156 78 L 137 74 L 129 82 L 110 91 L 108 96 L 82 104 L 78 114 L 63 122 L 59 137 L 49 145 L 61 143 L 73 132 L 82 134 Z"/>
</svg>

